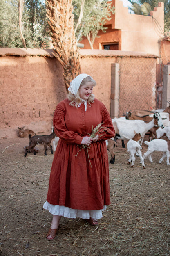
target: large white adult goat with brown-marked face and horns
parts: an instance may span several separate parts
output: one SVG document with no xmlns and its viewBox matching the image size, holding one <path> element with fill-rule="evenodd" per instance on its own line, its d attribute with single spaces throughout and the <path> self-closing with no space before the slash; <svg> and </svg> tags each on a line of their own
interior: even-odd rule
<svg viewBox="0 0 170 256">
<path fill-rule="evenodd" d="M 141 145 L 145 133 L 154 126 L 163 127 L 162 119 L 159 115 L 154 114 L 153 119 L 146 123 L 143 120 L 126 120 L 123 118 L 112 119 L 113 127 L 115 129 L 115 134 L 120 135 L 120 139 L 132 139 L 134 137 L 134 130 L 136 133 L 141 133 Z"/>
</svg>

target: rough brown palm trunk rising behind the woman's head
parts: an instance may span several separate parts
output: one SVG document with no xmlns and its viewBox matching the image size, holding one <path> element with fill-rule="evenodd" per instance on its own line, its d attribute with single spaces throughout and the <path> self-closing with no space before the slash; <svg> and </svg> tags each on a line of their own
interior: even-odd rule
<svg viewBox="0 0 170 256">
<path fill-rule="evenodd" d="M 46 1 L 50 36 L 54 46 L 53 54 L 63 66 L 66 89 L 69 83 L 81 73 L 72 9 L 72 0 Z"/>
</svg>

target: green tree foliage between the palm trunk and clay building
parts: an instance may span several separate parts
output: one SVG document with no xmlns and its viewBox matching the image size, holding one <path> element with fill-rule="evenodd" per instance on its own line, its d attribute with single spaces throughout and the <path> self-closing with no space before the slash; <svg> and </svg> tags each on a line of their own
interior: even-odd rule
<svg viewBox="0 0 170 256">
<path fill-rule="evenodd" d="M 72 4 L 74 6 L 73 13 L 76 26 L 81 9 L 81 0 L 73 0 Z M 81 20 L 81 24 L 78 26 L 78 30 L 76 31 L 78 41 L 81 40 L 82 36 L 85 36 L 87 37 L 91 48 L 93 48 L 94 40 L 98 37 L 98 31 L 102 30 L 105 32 L 107 27 L 104 25 L 106 21 L 110 20 L 110 16 L 113 13 L 114 7 L 111 7 L 111 3 L 107 0 L 86 0 L 83 18 Z"/>
</svg>

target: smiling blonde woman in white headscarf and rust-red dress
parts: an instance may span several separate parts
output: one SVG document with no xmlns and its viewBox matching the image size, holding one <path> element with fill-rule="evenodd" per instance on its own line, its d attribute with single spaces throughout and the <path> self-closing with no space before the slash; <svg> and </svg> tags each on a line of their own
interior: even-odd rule
<svg viewBox="0 0 170 256">
<path fill-rule="evenodd" d="M 114 128 L 106 107 L 94 99 L 95 85 L 91 76 L 78 75 L 70 83 L 68 98 L 54 112 L 54 132 L 60 139 L 43 206 L 53 215 L 47 240 L 55 238 L 62 216 L 80 217 L 94 226 L 110 204 L 105 140 L 114 137 Z"/>
</svg>

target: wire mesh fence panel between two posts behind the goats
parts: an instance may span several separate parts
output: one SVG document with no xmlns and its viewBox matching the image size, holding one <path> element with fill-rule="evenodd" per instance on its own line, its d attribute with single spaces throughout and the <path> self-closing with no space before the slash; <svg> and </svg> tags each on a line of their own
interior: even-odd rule
<svg viewBox="0 0 170 256">
<path fill-rule="evenodd" d="M 156 108 L 156 59 L 119 57 L 119 117 L 126 111 Z"/>
</svg>

